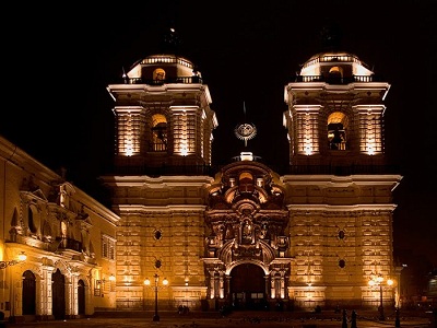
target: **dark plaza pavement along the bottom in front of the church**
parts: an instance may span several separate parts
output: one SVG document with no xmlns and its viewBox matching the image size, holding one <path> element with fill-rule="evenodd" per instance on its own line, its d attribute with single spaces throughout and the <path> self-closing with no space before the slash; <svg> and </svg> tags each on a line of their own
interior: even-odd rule
<svg viewBox="0 0 437 328">
<path fill-rule="evenodd" d="M 233 312 L 223 317 L 218 312 L 191 312 L 186 315 L 161 312 L 160 321 L 153 321 L 153 312 L 111 312 L 98 313 L 90 318 L 68 320 L 46 320 L 34 323 L 7 323 L 0 328 L 397 328 L 395 317 L 388 314 L 386 320 L 377 319 L 377 313 L 357 313 L 356 327 L 347 315 L 346 327 L 342 314 L 326 312 L 321 314 L 299 312 Z M 437 328 L 430 313 L 401 314 L 398 328 Z"/>
</svg>

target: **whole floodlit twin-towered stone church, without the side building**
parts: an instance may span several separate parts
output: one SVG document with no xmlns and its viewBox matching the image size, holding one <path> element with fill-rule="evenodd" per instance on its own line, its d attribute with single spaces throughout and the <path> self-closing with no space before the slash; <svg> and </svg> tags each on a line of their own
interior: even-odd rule
<svg viewBox="0 0 437 328">
<path fill-rule="evenodd" d="M 169 281 L 164 307 L 378 306 L 368 281 L 395 276 L 391 196 L 402 178 L 385 166 L 389 89 L 355 55 L 316 55 L 285 85 L 290 166 L 280 175 L 241 153 L 212 171 L 217 120 L 200 72 L 177 56 L 135 63 L 107 87 L 119 127 L 119 174 L 103 177 L 120 215 L 117 306 L 150 308 L 143 281 L 156 271 Z M 122 129 L 131 117 L 135 128 Z M 392 305 L 394 288 L 383 298 Z"/>
</svg>

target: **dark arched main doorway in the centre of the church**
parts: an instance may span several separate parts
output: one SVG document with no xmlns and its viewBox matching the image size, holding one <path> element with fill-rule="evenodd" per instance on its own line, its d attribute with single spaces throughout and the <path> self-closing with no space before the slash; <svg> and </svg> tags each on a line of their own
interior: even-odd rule
<svg viewBox="0 0 437 328">
<path fill-rule="evenodd" d="M 244 263 L 231 271 L 231 295 L 234 309 L 264 309 L 268 306 L 264 271 Z"/>
</svg>

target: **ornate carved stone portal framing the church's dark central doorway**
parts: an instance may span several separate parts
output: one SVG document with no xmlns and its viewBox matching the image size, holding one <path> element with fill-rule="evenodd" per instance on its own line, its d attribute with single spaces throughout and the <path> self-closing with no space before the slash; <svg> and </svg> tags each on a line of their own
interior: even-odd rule
<svg viewBox="0 0 437 328">
<path fill-rule="evenodd" d="M 286 297 L 287 222 L 284 188 L 270 168 L 251 161 L 225 166 L 209 190 L 205 213 L 209 298 L 231 301 L 231 271 L 241 263 L 262 268 L 263 298 Z"/>
</svg>

